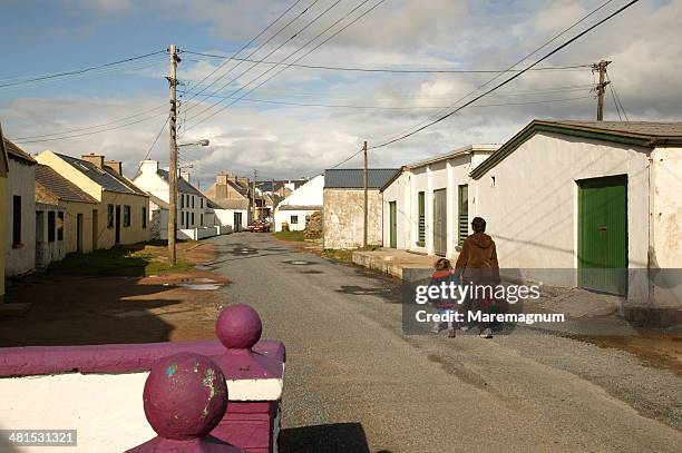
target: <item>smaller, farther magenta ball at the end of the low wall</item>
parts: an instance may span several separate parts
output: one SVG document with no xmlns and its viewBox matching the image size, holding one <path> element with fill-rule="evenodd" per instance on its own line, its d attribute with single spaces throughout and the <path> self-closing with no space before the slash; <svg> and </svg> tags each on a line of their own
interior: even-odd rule
<svg viewBox="0 0 682 453">
<path fill-rule="evenodd" d="M 261 339 L 263 325 L 259 313 L 245 304 L 224 308 L 215 323 L 221 343 L 231 349 L 246 349 Z"/>
</svg>

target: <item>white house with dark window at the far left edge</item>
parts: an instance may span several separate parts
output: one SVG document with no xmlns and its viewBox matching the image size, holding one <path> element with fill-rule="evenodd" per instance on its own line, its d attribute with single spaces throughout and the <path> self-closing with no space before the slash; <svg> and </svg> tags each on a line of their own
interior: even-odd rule
<svg viewBox="0 0 682 453">
<path fill-rule="evenodd" d="M 9 157 L 4 276 L 36 267 L 36 159 L 4 139 Z M 6 221 L 4 219 L 2 219 Z"/>
</svg>

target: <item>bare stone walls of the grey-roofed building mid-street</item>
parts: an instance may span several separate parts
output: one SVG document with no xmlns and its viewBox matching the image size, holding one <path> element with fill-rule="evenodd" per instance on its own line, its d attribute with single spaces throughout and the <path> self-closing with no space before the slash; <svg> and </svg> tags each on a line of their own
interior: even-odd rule
<svg viewBox="0 0 682 453">
<path fill-rule="evenodd" d="M 324 189 L 322 228 L 324 248 L 358 248 L 362 246 L 363 234 L 362 189 Z M 368 244 L 380 245 L 381 193 L 369 190 Z"/>
</svg>

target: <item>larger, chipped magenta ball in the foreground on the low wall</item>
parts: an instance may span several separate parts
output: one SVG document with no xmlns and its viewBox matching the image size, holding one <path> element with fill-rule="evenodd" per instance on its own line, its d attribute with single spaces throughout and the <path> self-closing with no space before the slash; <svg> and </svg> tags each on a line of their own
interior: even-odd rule
<svg viewBox="0 0 682 453">
<path fill-rule="evenodd" d="M 189 440 L 208 434 L 227 408 L 227 385 L 211 358 L 179 353 L 162 358 L 144 392 L 145 415 L 159 436 Z"/>
</svg>

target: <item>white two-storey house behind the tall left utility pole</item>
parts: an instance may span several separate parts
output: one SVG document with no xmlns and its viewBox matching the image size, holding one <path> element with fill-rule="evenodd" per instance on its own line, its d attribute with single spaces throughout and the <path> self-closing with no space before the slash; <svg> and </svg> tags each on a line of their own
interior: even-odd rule
<svg viewBox="0 0 682 453">
<path fill-rule="evenodd" d="M 179 237 L 188 236 L 196 238 L 195 236 L 201 234 L 192 230 L 207 229 L 214 226 L 213 223 L 208 224 L 207 221 L 211 208 L 204 194 L 185 179 L 187 175 L 183 176 L 177 178 L 177 230 Z M 152 209 L 149 209 L 149 220 L 153 234 L 158 230 L 160 238 L 167 238 L 168 227 L 162 224 L 164 219 L 166 219 L 167 224 L 167 213 L 166 215 L 163 213 L 164 204 L 167 210 L 168 203 L 170 201 L 168 171 L 158 168 L 158 161 L 156 160 L 144 160 L 133 183 L 147 191 L 150 195 L 152 201 L 154 201 L 152 197 L 155 197 L 157 201 L 163 201 L 155 203 Z M 155 210 L 157 214 L 155 214 Z M 159 221 L 160 224 L 154 225 L 154 221 Z M 183 233 L 183 230 L 185 232 Z"/>
</svg>

